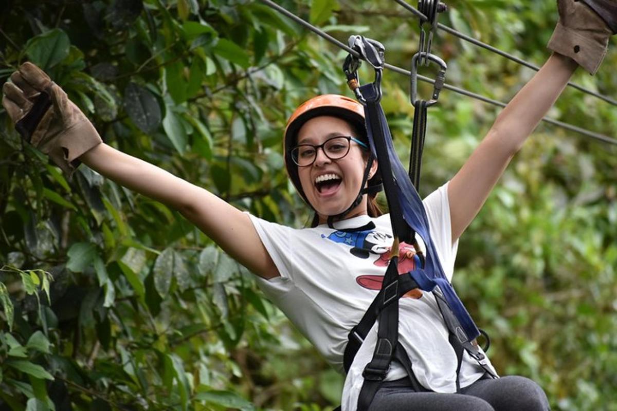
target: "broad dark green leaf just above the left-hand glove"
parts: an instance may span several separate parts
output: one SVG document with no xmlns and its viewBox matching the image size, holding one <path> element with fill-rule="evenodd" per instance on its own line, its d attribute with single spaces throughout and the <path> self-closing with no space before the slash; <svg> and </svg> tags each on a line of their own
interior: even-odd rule
<svg viewBox="0 0 617 411">
<path fill-rule="evenodd" d="M 48 70 L 67 57 L 70 45 L 67 33 L 54 28 L 28 40 L 25 52 L 31 62 Z"/>
</svg>

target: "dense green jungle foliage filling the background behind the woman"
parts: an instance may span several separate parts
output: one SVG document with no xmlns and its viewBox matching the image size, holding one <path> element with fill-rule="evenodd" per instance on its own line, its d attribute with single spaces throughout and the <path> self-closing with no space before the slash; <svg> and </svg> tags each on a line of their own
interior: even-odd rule
<svg viewBox="0 0 617 411">
<path fill-rule="evenodd" d="M 400 67 L 418 47 L 418 20 L 394 1 L 278 3 L 341 41 L 378 39 Z M 447 4 L 442 23 L 537 65 L 549 56 L 555 1 Z M 574 81 L 617 97 L 615 46 L 597 76 L 579 70 Z M 533 74 L 447 33 L 433 47 L 450 84 L 493 99 L 507 101 Z M 351 95 L 344 57 L 248 0 L 4 0 L 0 9 L 0 84 L 35 62 L 108 144 L 294 227 L 310 215 L 284 173 L 284 124 L 315 94 Z M 404 163 L 408 87 L 386 71 L 383 106 Z M 456 173 L 498 112 L 442 92 L 429 109 L 421 194 Z M 550 116 L 617 137 L 615 106 L 572 88 Z M 491 335 L 492 361 L 536 380 L 554 410 L 617 410 L 616 189 L 615 145 L 543 123 L 460 240 L 455 287 Z M 4 110 L 0 266 L 0 410 L 339 404 L 342 376 L 244 267 L 164 205 L 84 166 L 68 180 Z"/>
</svg>

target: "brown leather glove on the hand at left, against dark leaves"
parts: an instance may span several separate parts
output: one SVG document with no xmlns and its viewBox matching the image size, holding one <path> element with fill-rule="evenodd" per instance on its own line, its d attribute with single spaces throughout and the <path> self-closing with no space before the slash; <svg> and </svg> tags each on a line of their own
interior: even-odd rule
<svg viewBox="0 0 617 411">
<path fill-rule="evenodd" d="M 23 63 L 2 87 L 6 108 L 23 139 L 72 174 L 80 155 L 101 144 L 99 133 L 43 70 Z"/>
</svg>

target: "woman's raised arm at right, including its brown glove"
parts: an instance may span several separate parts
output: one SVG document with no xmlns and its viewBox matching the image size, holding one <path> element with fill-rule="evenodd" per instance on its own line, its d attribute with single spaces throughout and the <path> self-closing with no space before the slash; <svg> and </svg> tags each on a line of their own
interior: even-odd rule
<svg viewBox="0 0 617 411">
<path fill-rule="evenodd" d="M 559 21 L 548 47 L 553 55 L 497 116 L 448 186 L 452 241 L 469 226 L 513 155 L 555 103 L 580 65 L 592 75 L 617 32 L 613 0 L 558 0 Z"/>
</svg>

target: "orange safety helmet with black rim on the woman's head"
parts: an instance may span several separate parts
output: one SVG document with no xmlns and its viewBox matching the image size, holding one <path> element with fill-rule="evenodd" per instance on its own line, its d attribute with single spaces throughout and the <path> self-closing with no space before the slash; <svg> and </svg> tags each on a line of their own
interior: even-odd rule
<svg viewBox="0 0 617 411">
<path fill-rule="evenodd" d="M 285 134 L 283 136 L 285 168 L 291 182 L 296 187 L 300 197 L 309 206 L 312 206 L 307 200 L 302 185 L 300 185 L 300 177 L 298 176 L 298 168 L 291 159 L 291 150 L 294 148 L 297 140 L 297 134 L 302 125 L 310 119 L 317 116 L 334 116 L 349 121 L 362 136 L 357 136 L 361 140 L 366 140 L 366 126 L 364 122 L 364 107 L 354 99 L 338 94 L 322 94 L 321 96 L 313 97 L 305 101 L 296 108 L 296 111 L 289 117 Z"/>
</svg>

